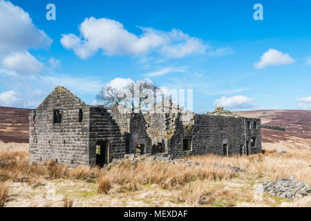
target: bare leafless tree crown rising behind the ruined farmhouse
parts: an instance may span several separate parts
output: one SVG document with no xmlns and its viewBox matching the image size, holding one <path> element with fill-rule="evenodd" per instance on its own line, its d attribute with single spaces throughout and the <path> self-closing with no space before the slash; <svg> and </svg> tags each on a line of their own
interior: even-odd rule
<svg viewBox="0 0 311 221">
<path fill-rule="evenodd" d="M 158 90 L 159 88 L 152 81 L 145 79 L 129 83 L 121 90 L 104 86 L 96 97 L 106 106 L 113 106 L 114 103 L 117 103 L 132 108 L 133 111 L 140 111 L 155 103 Z"/>
</svg>

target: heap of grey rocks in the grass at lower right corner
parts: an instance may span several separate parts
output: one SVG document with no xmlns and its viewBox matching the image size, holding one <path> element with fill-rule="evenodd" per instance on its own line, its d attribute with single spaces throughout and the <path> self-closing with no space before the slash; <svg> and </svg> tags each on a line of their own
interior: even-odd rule
<svg viewBox="0 0 311 221">
<path fill-rule="evenodd" d="M 288 200 L 292 200 L 293 197 L 302 198 L 305 195 L 311 195 L 311 186 L 295 180 L 293 176 L 281 178 L 276 182 L 263 182 L 263 189 L 270 195 L 276 195 Z"/>
</svg>

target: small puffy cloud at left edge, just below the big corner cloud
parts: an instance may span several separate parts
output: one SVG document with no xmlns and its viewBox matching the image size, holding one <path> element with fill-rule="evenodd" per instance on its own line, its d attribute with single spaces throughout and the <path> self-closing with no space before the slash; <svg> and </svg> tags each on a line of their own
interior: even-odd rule
<svg viewBox="0 0 311 221">
<path fill-rule="evenodd" d="M 1 65 L 20 74 L 40 73 L 44 65 L 29 52 L 13 52 L 3 58 Z"/>
</svg>

